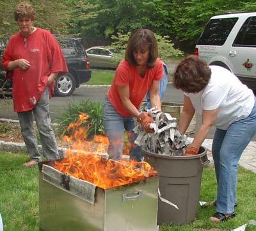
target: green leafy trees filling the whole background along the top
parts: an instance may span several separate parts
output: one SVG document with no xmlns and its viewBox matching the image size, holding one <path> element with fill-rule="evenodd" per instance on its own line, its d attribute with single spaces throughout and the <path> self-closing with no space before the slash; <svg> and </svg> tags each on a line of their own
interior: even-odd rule
<svg viewBox="0 0 256 231">
<path fill-rule="evenodd" d="M 17 32 L 13 9 L 20 0 L 0 1 L 0 40 Z M 168 36 L 173 47 L 191 50 L 213 15 L 255 11 L 255 0 L 31 0 L 35 26 L 82 36 L 84 47 L 109 45 L 113 36 L 148 28 Z M 167 38 L 167 37 L 166 37 Z"/>
</svg>

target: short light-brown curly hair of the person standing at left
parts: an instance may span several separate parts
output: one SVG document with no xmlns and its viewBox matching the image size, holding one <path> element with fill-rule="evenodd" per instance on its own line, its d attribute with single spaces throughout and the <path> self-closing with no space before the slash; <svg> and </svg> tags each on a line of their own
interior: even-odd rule
<svg viewBox="0 0 256 231">
<path fill-rule="evenodd" d="M 15 6 L 14 19 L 17 21 L 22 17 L 29 17 L 31 20 L 35 20 L 35 10 L 30 3 L 22 2 Z"/>
</svg>

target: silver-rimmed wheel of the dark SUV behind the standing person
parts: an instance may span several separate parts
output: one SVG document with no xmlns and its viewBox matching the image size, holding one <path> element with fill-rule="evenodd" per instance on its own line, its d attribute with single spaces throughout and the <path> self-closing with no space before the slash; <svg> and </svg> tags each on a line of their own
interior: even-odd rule
<svg viewBox="0 0 256 231">
<path fill-rule="evenodd" d="M 63 74 L 56 79 L 56 84 L 54 87 L 54 95 L 65 97 L 71 95 L 76 88 L 76 81 L 72 74 L 69 72 Z"/>
</svg>

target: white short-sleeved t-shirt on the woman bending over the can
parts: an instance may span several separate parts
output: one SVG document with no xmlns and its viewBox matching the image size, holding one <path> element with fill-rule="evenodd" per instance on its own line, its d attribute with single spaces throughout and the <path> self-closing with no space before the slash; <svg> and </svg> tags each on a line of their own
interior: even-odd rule
<svg viewBox="0 0 256 231">
<path fill-rule="evenodd" d="M 193 104 L 198 115 L 204 110 L 220 111 L 214 125 L 227 130 L 228 126 L 250 115 L 255 103 L 254 95 L 246 85 L 229 70 L 210 66 L 211 79 L 207 86 L 198 93 L 184 93 Z"/>
</svg>

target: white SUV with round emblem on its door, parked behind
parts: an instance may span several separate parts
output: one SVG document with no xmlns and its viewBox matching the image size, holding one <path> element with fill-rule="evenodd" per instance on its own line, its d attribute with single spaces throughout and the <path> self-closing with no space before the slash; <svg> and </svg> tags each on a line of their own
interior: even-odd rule
<svg viewBox="0 0 256 231">
<path fill-rule="evenodd" d="M 227 68 L 256 92 L 256 12 L 211 17 L 195 55 L 209 65 Z"/>
</svg>

